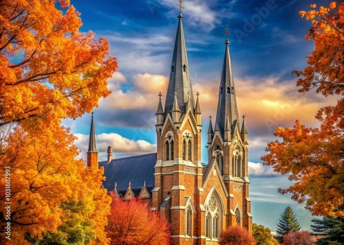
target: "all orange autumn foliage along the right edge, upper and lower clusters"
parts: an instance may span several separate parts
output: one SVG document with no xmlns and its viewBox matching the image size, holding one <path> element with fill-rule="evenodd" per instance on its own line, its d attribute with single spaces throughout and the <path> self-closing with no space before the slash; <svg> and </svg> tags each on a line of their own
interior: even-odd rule
<svg viewBox="0 0 344 245">
<path fill-rule="evenodd" d="M 312 5 L 311 8 L 316 8 Z M 312 21 L 306 38 L 314 40 L 315 49 L 304 71 L 294 71 L 297 86 L 304 93 L 316 89 L 325 97 L 339 97 L 335 106 L 321 108 L 316 119 L 320 128 L 307 128 L 297 121 L 294 128 L 277 128 L 281 141 L 268 143 L 269 152 L 261 158 L 275 172 L 290 174 L 294 185 L 279 189 L 292 199 L 305 203 L 313 215 L 344 215 L 344 3 L 334 11 L 329 8 L 301 11 Z"/>
</svg>

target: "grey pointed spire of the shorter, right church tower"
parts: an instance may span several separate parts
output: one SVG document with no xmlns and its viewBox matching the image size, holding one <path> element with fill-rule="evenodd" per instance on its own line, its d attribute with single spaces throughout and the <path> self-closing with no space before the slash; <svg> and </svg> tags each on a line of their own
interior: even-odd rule
<svg viewBox="0 0 344 245">
<path fill-rule="evenodd" d="M 222 67 L 222 77 L 219 85 L 219 102 L 217 104 L 216 123 L 219 130 L 224 134 L 226 126 L 226 115 L 230 123 L 230 130 L 234 132 L 236 121 L 239 122 L 239 113 L 237 110 L 236 91 L 233 81 L 232 66 L 230 65 L 230 56 L 228 48 L 228 27 L 226 27 L 226 51 L 224 53 L 224 65 Z"/>
</svg>

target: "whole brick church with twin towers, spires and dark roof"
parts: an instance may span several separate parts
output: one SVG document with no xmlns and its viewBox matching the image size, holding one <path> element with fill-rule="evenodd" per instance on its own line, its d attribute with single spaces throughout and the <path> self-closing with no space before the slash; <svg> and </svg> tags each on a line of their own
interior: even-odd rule
<svg viewBox="0 0 344 245">
<path fill-rule="evenodd" d="M 104 167 L 103 186 L 118 198 L 140 197 L 171 223 L 173 244 L 217 244 L 228 226 L 252 229 L 245 119 L 239 123 L 228 45 L 219 82 L 215 127 L 208 124 L 208 163 L 201 163 L 201 109 L 194 97 L 182 25 L 178 15 L 166 100 L 156 111 L 157 152 L 98 162 L 94 121 L 87 165 Z"/>
</svg>

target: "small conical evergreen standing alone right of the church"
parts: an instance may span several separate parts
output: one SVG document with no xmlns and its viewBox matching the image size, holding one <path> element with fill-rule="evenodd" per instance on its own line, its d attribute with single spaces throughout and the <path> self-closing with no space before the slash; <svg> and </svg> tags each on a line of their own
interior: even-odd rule
<svg viewBox="0 0 344 245">
<path fill-rule="evenodd" d="M 281 218 L 279 218 L 279 223 L 277 224 L 277 238 L 283 240 L 283 235 L 288 234 L 290 231 L 299 231 L 301 228 L 297 218 L 294 215 L 291 207 L 286 207 Z"/>
</svg>

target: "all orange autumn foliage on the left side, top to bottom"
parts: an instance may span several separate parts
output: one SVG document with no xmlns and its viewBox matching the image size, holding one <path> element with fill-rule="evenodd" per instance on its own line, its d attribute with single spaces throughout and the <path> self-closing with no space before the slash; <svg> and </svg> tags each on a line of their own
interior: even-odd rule
<svg viewBox="0 0 344 245">
<path fill-rule="evenodd" d="M 79 32 L 79 15 L 69 0 L 0 1 L 1 200 L 6 167 L 11 178 L 11 240 L 4 240 L 1 202 L 0 244 L 42 240 L 74 217 L 87 222 L 89 244 L 109 243 L 111 198 L 100 188 L 103 170 L 77 159 L 74 135 L 60 126 L 109 95 L 107 78 L 117 68 L 105 38 Z M 83 211 L 63 208 L 74 204 Z"/>
</svg>

